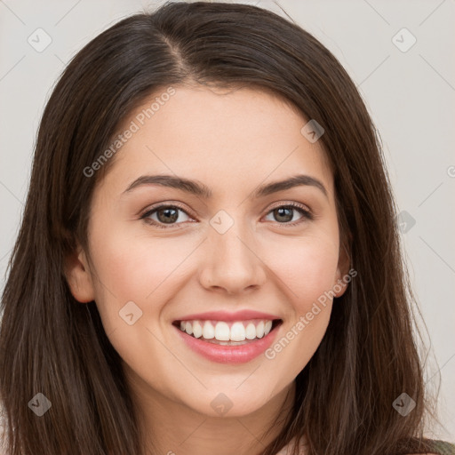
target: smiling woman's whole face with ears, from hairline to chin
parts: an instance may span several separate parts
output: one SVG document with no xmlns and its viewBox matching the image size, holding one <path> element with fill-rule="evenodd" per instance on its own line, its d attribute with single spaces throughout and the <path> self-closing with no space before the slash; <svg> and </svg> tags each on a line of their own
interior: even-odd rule
<svg viewBox="0 0 455 455">
<path fill-rule="evenodd" d="M 333 178 L 283 100 L 174 90 L 124 122 L 92 199 L 92 265 L 79 254 L 70 283 L 142 395 L 246 415 L 291 385 L 323 339 L 328 291 L 346 289 Z"/>
</svg>

